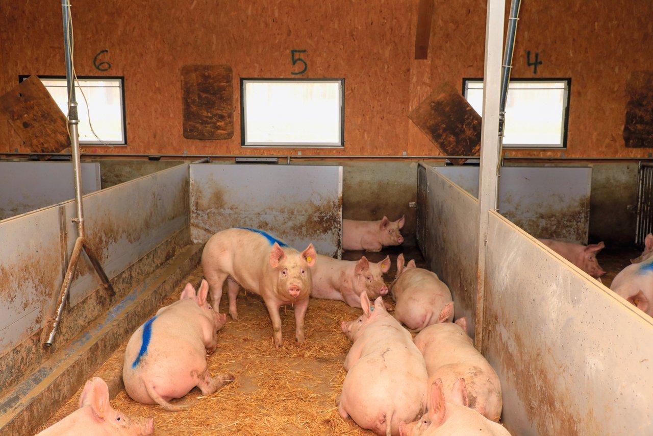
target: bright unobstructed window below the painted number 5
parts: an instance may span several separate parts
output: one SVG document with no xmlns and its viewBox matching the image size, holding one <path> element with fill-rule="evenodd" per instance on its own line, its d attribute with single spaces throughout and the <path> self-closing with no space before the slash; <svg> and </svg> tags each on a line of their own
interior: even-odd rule
<svg viewBox="0 0 653 436">
<path fill-rule="evenodd" d="M 342 147 L 345 79 L 240 79 L 242 146 Z"/>
</svg>

